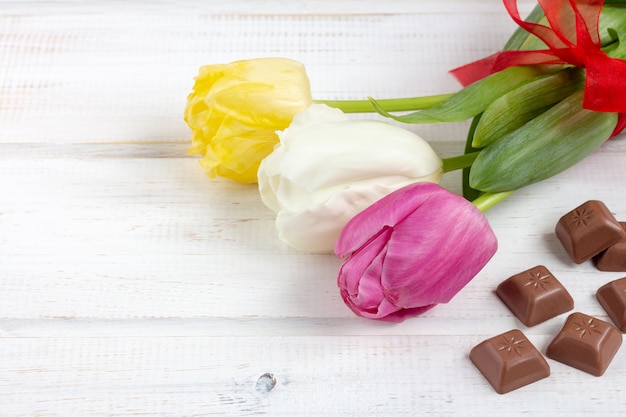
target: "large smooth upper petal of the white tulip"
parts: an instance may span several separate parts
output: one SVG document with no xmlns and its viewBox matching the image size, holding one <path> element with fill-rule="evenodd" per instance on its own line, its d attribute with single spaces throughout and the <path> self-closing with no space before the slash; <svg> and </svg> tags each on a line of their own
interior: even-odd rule
<svg viewBox="0 0 626 417">
<path fill-rule="evenodd" d="M 390 174 L 420 178 L 436 173 L 438 180 L 441 171 L 441 160 L 426 141 L 373 120 L 315 124 L 281 145 L 289 152 L 282 176 L 310 192 Z"/>
</svg>

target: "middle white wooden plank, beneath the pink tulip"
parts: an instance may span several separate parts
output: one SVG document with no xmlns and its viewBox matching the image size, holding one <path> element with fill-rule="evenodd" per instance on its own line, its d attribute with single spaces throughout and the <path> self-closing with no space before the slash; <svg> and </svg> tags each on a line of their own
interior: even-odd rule
<svg viewBox="0 0 626 417">
<path fill-rule="evenodd" d="M 12 152 L 19 153 L 15 146 Z M 94 156 L 85 157 L 89 146 Z M 194 158 L 154 157 L 170 154 L 170 145 L 147 154 L 145 146 L 76 147 L 75 153 L 62 147 L 59 157 L 41 157 L 58 152 L 43 147 L 33 159 L 2 159 L 2 317 L 352 317 L 336 289 L 340 261 L 282 244 L 254 186 L 209 180 Z M 135 149 L 136 157 L 115 156 L 126 149 Z M 467 326 L 481 332 L 486 317 L 498 328 L 511 324 L 491 292 L 520 268 L 540 263 L 571 286 L 581 308 L 602 314 L 593 292 L 619 274 L 573 265 L 553 227 L 584 199 L 603 200 L 623 216 L 626 207 L 614 190 L 625 149 L 622 141 L 612 141 L 488 212 L 499 252 L 454 303 L 427 315 L 435 320 L 427 331 L 437 333 L 460 311 L 465 320 L 451 331 Z"/>
</svg>

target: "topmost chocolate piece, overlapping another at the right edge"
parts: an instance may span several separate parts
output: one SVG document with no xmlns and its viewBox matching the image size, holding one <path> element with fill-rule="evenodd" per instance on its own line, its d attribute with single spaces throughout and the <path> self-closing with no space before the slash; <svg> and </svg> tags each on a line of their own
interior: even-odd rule
<svg viewBox="0 0 626 417">
<path fill-rule="evenodd" d="M 603 202 L 589 200 L 561 217 L 556 236 L 577 264 L 620 240 L 626 232 Z"/>
</svg>

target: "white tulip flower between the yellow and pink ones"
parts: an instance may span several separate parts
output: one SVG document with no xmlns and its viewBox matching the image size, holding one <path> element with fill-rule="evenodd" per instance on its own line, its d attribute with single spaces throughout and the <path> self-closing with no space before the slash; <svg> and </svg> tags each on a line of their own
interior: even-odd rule
<svg viewBox="0 0 626 417">
<path fill-rule="evenodd" d="M 259 191 L 277 214 L 279 237 L 301 251 L 332 251 L 357 213 L 405 185 L 442 175 L 441 159 L 416 134 L 351 120 L 322 104 L 296 114 L 278 136 L 259 167 Z"/>
</svg>

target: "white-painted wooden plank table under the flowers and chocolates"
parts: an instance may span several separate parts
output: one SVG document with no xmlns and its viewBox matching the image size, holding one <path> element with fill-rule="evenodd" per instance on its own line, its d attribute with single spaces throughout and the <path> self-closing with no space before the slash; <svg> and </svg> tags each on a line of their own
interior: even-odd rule
<svg viewBox="0 0 626 417">
<path fill-rule="evenodd" d="M 625 348 L 505 395 L 468 359 L 512 328 L 545 351 L 564 316 L 526 328 L 493 293 L 538 264 L 607 319 L 595 291 L 626 274 L 574 265 L 553 229 L 589 199 L 626 220 L 623 139 L 489 211 L 493 260 L 395 325 L 354 316 L 338 259 L 284 246 L 254 186 L 186 154 L 203 64 L 298 59 L 318 99 L 435 94 L 513 29 L 499 0 L 0 1 L 0 415 L 626 413 Z M 449 156 L 467 124 L 410 128 Z"/>
</svg>

